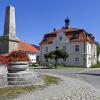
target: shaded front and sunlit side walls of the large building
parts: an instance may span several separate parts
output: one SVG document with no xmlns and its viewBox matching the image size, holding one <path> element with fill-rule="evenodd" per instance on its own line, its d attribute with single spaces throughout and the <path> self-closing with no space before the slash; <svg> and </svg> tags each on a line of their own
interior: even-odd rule
<svg viewBox="0 0 100 100">
<path fill-rule="evenodd" d="M 62 39 L 60 40 L 60 37 Z M 66 52 L 69 57 L 64 61 L 59 59 L 59 63 L 64 63 L 69 66 L 84 66 L 90 67 L 92 64 L 96 63 L 94 55 L 96 58 L 96 45 L 88 42 L 70 42 L 69 39 L 65 36 L 65 33 L 57 33 L 56 38 L 54 38 L 52 44 L 46 44 L 41 46 L 41 61 L 42 63 L 55 63 L 54 59 L 48 59 L 46 62 L 44 54 L 56 50 L 56 47 L 63 49 L 66 47 Z M 75 51 L 75 46 L 79 46 L 79 51 Z M 48 48 L 48 51 L 45 49 Z"/>
</svg>

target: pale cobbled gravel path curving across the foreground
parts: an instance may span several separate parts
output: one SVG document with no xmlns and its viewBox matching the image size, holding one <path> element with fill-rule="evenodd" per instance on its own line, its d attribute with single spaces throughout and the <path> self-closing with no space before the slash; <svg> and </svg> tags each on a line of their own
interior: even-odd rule
<svg viewBox="0 0 100 100">
<path fill-rule="evenodd" d="M 89 83 L 70 77 L 60 77 L 58 85 L 21 94 L 13 100 L 100 100 L 100 91 Z"/>
</svg>

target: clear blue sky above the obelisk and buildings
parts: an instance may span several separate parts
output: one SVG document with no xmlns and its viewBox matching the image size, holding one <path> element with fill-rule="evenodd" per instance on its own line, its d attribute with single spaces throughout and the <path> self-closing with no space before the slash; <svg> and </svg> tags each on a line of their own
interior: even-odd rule
<svg viewBox="0 0 100 100">
<path fill-rule="evenodd" d="M 39 45 L 44 34 L 64 27 L 82 28 L 100 43 L 100 0 L 0 0 L 0 35 L 4 30 L 5 8 L 16 9 L 16 35 L 23 41 Z"/>
</svg>

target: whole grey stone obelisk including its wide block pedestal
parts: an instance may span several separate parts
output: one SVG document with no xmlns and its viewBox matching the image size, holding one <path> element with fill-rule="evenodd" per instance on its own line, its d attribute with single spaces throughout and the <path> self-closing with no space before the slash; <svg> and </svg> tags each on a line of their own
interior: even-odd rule
<svg viewBox="0 0 100 100">
<path fill-rule="evenodd" d="M 15 8 L 9 5 L 5 12 L 4 33 L 0 37 L 0 54 L 9 54 L 18 50 L 19 41 L 16 37 Z"/>
</svg>

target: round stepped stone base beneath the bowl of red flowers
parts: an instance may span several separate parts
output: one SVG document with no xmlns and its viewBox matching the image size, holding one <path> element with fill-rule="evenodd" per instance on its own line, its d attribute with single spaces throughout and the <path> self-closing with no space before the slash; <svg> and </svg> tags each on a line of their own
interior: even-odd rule
<svg viewBox="0 0 100 100">
<path fill-rule="evenodd" d="M 8 85 L 29 85 L 39 81 L 36 72 L 31 71 L 29 68 L 25 71 L 16 73 L 8 73 Z"/>
</svg>

